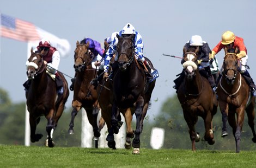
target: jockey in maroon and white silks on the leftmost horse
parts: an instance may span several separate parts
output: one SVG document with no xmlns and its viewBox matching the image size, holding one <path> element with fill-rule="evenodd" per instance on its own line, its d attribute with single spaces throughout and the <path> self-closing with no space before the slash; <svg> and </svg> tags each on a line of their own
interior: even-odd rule
<svg viewBox="0 0 256 168">
<path fill-rule="evenodd" d="M 57 92 L 59 94 L 63 94 L 63 81 L 60 79 L 58 75 L 58 67 L 59 67 L 59 61 L 60 61 L 60 54 L 59 51 L 52 47 L 50 44 L 50 41 L 46 38 L 43 38 L 40 42 L 38 47 L 34 50 L 35 52 L 39 52 L 42 55 L 42 59 L 44 60 L 44 63 L 46 64 L 47 71 L 55 76 L 54 79 L 56 81 L 57 85 Z M 26 62 L 26 66 L 28 64 L 28 61 Z M 28 91 L 28 88 L 31 84 L 30 80 L 27 80 L 23 86 L 25 87 L 25 90 Z"/>
</svg>

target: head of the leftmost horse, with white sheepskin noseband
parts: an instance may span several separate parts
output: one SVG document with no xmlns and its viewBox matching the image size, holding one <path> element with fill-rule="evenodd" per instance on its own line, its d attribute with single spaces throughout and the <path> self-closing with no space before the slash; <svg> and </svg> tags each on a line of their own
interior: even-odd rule
<svg viewBox="0 0 256 168">
<path fill-rule="evenodd" d="M 36 75 L 45 70 L 44 60 L 40 53 L 34 53 L 31 48 L 31 56 L 27 61 L 27 77 L 28 79 L 34 79 Z"/>
</svg>

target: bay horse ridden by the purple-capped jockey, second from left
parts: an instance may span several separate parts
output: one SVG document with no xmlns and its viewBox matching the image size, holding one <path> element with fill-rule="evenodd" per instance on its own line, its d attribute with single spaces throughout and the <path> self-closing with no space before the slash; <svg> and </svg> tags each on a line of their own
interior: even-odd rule
<svg viewBox="0 0 256 168">
<path fill-rule="evenodd" d="M 74 98 L 72 101 L 72 113 L 69 127 L 69 134 L 74 134 L 74 119 L 80 111 L 84 108 L 87 113 L 90 125 L 93 126 L 94 137 L 93 140 L 99 140 L 100 129 L 97 125 L 97 115 L 99 107 L 97 107 L 97 92 L 90 81 L 96 76 L 96 69 L 92 67 L 93 53 L 88 50 L 89 42 L 85 40 L 76 43 L 75 49 L 75 82 L 74 82 Z M 103 122 L 101 122 L 103 124 Z M 102 128 L 103 126 L 100 126 Z"/>
</svg>

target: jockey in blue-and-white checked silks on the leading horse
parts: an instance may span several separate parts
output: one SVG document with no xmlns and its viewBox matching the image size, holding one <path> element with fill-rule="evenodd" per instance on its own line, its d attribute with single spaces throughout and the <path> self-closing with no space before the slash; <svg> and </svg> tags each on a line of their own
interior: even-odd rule
<svg viewBox="0 0 256 168">
<path fill-rule="evenodd" d="M 122 37 L 128 37 L 132 34 L 135 35 L 135 37 L 133 38 L 133 46 L 135 49 L 136 59 L 137 60 L 140 59 L 147 67 L 148 72 L 145 72 L 146 76 L 147 76 L 147 81 L 150 81 L 151 79 L 153 79 L 153 75 L 151 74 L 151 67 L 149 66 L 148 61 L 145 60 L 145 58 L 143 57 L 142 36 L 137 31 L 135 31 L 135 28 L 130 23 L 127 23 L 124 26 L 123 30 L 121 30 L 118 34 Z M 113 55 L 117 51 L 117 44 L 118 44 L 118 38 L 116 37 L 116 34 L 115 34 L 114 39 L 111 42 L 111 44 L 106 52 L 106 56 L 105 56 L 105 60 L 104 60 L 105 62 L 104 62 L 104 67 L 103 67 L 104 72 L 105 72 L 104 78 L 106 78 L 108 76 L 109 63 L 110 63 L 110 60 L 112 59 Z M 118 60 L 118 57 L 115 57 L 115 61 L 117 61 L 117 60 Z M 139 61 L 139 62 L 141 62 L 141 61 Z M 112 78 L 112 76 L 109 75 L 109 79 L 111 79 L 111 78 Z"/>
</svg>

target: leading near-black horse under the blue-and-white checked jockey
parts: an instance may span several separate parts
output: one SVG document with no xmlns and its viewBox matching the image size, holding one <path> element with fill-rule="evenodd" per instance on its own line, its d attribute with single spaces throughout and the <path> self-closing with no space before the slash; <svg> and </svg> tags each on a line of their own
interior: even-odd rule
<svg viewBox="0 0 256 168">
<path fill-rule="evenodd" d="M 132 140 L 132 153 L 139 154 L 143 121 L 148 111 L 156 81 L 146 81 L 144 69 L 138 64 L 138 61 L 141 60 L 137 60 L 135 57 L 135 48 L 132 44 L 134 36 L 121 37 L 117 34 L 118 69 L 113 77 L 112 127 L 109 132 L 117 134 L 119 131 L 118 111 L 131 108 L 131 111 L 134 111 L 136 115 L 136 130 L 135 138 Z M 148 59 L 147 61 L 154 68 Z"/>
</svg>

